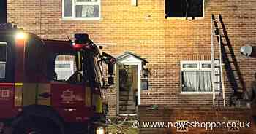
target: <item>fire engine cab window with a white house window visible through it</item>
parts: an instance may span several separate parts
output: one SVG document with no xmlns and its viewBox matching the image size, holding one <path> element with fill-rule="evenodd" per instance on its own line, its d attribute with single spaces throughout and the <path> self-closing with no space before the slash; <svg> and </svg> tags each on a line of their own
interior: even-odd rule
<svg viewBox="0 0 256 134">
<path fill-rule="evenodd" d="M 75 55 L 58 55 L 55 60 L 57 80 L 67 81 L 76 71 Z"/>
</svg>

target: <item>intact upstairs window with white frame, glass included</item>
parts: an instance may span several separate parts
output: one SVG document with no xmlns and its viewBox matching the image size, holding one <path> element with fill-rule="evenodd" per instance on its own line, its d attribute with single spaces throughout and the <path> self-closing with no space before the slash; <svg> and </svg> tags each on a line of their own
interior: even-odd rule
<svg viewBox="0 0 256 134">
<path fill-rule="evenodd" d="M 98 20 L 100 0 L 62 0 L 62 17 L 74 20 Z"/>
</svg>

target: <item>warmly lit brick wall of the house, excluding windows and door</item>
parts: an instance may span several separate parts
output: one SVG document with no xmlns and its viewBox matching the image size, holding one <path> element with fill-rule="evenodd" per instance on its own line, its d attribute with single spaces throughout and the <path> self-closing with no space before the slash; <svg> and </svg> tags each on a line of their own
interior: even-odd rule
<svg viewBox="0 0 256 134">
<path fill-rule="evenodd" d="M 102 0 L 101 20 L 61 20 L 61 0 L 7 0 L 7 19 L 18 27 L 48 39 L 89 33 L 105 51 L 121 55 L 134 52 L 146 58 L 150 89 L 142 91 L 144 105 L 210 107 L 211 95 L 180 94 L 180 60 L 209 59 L 210 15 L 222 14 L 246 87 L 252 82 L 256 60 L 239 49 L 256 42 L 256 1 L 207 0 L 200 20 L 166 20 L 164 0 Z M 226 77 L 225 77 L 226 79 Z M 225 84 L 227 94 L 232 92 Z M 110 114 L 116 114 L 116 94 L 108 95 Z M 228 97 L 228 95 L 227 95 Z"/>
</svg>

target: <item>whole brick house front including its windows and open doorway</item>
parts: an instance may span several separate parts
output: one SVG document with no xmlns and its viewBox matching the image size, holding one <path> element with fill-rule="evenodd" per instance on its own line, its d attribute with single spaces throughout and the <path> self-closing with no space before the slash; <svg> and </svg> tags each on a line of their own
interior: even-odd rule
<svg viewBox="0 0 256 134">
<path fill-rule="evenodd" d="M 7 21 L 43 39 L 88 33 L 114 55 L 116 85 L 105 96 L 109 114 L 115 116 L 134 114 L 138 105 L 213 106 L 211 14 L 222 15 L 241 80 L 249 89 L 256 60 L 241 55 L 240 48 L 256 43 L 255 7 L 251 0 L 7 0 Z M 233 84 L 227 72 L 223 68 L 229 106 Z M 217 99 L 220 95 L 217 90 Z"/>
</svg>

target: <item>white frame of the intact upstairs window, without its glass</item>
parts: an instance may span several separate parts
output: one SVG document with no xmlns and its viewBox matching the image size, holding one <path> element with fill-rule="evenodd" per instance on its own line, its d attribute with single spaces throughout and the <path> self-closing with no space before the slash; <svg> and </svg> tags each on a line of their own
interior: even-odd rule
<svg viewBox="0 0 256 134">
<path fill-rule="evenodd" d="M 62 20 L 100 20 L 101 18 L 101 0 L 97 0 L 97 2 L 76 2 L 76 0 L 72 0 L 72 17 L 65 17 L 64 1 L 62 0 Z M 75 17 L 76 5 L 99 5 L 99 17 Z"/>
</svg>

